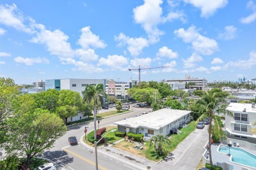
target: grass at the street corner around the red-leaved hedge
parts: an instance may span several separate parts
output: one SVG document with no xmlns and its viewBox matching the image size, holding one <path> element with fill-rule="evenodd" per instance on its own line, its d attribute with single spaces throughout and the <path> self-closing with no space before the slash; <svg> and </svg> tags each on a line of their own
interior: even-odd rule
<svg viewBox="0 0 256 170">
<path fill-rule="evenodd" d="M 102 137 L 103 137 L 103 135 L 105 135 L 107 132 L 109 132 L 109 131 L 111 131 L 111 130 L 113 130 L 113 129 L 117 129 L 117 128 L 116 128 L 116 126 L 107 126 L 106 129 L 107 129 L 106 132 L 101 135 Z M 94 131 L 92 131 L 92 132 L 90 132 L 90 133 L 93 133 L 93 134 L 94 134 Z M 88 134 L 89 134 L 89 133 L 88 133 Z M 86 136 L 87 136 L 88 134 L 86 134 Z M 104 137 L 104 138 L 105 138 L 105 143 L 104 143 L 104 145 L 107 145 L 108 143 L 111 144 L 111 143 L 114 143 L 114 142 L 116 142 L 116 141 L 122 139 L 121 137 L 116 137 L 116 136 L 115 136 L 115 132 L 110 132 L 110 133 L 108 133 L 108 134 L 106 135 L 106 137 Z M 86 140 L 85 140 L 85 137 L 84 137 L 84 138 L 83 138 L 83 141 L 84 141 L 87 145 L 90 145 L 91 147 L 94 147 L 94 144 L 91 143 L 91 142 L 89 142 L 89 141 L 87 140 L 87 138 L 86 138 Z M 100 145 L 102 145 L 102 144 L 100 144 Z"/>
</svg>

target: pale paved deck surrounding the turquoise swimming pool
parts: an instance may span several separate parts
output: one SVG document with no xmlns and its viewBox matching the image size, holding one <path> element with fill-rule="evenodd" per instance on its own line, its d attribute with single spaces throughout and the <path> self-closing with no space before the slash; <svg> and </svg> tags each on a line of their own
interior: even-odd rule
<svg viewBox="0 0 256 170">
<path fill-rule="evenodd" d="M 235 164 L 234 162 L 231 162 L 230 157 L 227 156 L 227 154 L 222 154 L 218 151 L 219 145 L 222 145 L 222 144 L 218 143 L 218 144 L 214 144 L 214 145 L 211 146 L 213 162 L 219 162 L 219 163 L 224 162 L 224 163 L 229 163 L 230 165 L 236 165 L 236 166 L 241 166 L 241 167 L 249 168 L 249 169 L 252 169 L 252 170 L 254 170 L 254 169 L 256 170 L 256 168 L 242 166 L 242 165 L 239 165 L 239 164 Z M 234 148 L 237 148 L 237 147 L 234 147 Z M 250 152 L 253 155 L 256 155 L 256 151 L 254 151 L 254 150 L 245 149 L 243 147 L 239 147 L 239 148 L 244 149 L 244 150 Z"/>
</svg>

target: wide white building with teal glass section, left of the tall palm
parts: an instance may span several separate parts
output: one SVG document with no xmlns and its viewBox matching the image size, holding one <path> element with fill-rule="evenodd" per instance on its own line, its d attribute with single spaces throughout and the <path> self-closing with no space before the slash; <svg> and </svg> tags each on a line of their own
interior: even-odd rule
<svg viewBox="0 0 256 170">
<path fill-rule="evenodd" d="M 57 89 L 57 90 L 72 90 L 79 92 L 83 96 L 85 88 L 91 84 L 103 84 L 103 88 L 106 86 L 105 79 L 58 79 L 58 80 L 45 80 L 45 90 Z M 104 89 L 105 90 L 105 89 Z"/>
</svg>

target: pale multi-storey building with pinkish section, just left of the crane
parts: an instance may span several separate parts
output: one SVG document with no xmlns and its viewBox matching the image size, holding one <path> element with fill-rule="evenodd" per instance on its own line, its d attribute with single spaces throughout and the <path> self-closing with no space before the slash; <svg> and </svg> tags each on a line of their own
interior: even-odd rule
<svg viewBox="0 0 256 170">
<path fill-rule="evenodd" d="M 131 80 L 130 82 L 116 82 L 113 79 L 107 81 L 106 94 L 111 96 L 128 96 L 127 90 L 137 85 L 137 80 Z"/>
</svg>

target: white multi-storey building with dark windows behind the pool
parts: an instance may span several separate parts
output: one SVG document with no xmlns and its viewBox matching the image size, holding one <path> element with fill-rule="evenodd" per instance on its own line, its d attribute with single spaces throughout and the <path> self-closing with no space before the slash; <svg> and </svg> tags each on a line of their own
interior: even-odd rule
<svg viewBox="0 0 256 170">
<path fill-rule="evenodd" d="M 256 144 L 256 135 L 250 131 L 250 129 L 256 129 L 255 104 L 230 103 L 226 109 L 234 114 L 234 117 L 225 116 L 229 141 L 232 144 L 236 142 L 240 146 L 244 145 L 243 147 L 246 147 L 248 142 Z"/>
</svg>

